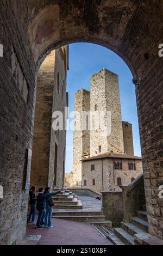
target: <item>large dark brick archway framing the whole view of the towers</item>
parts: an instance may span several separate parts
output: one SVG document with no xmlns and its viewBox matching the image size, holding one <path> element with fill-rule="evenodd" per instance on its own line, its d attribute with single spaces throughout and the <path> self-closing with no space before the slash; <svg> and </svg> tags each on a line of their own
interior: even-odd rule
<svg viewBox="0 0 163 256">
<path fill-rule="evenodd" d="M 19 1 L 13 4 L 2 0 L 1 7 L 2 243 L 20 241 L 26 232 L 28 190 L 23 185 L 24 159 L 26 149 L 32 148 L 33 143 L 36 71 L 53 48 L 79 41 L 110 48 L 133 73 L 149 232 L 162 238 L 163 203 L 158 188 L 163 180 L 163 75 L 158 46 L 163 42 L 163 3 L 40 0 L 22 1 L 20 5 Z M 5 204 L 8 197 L 10 209 Z"/>
</svg>

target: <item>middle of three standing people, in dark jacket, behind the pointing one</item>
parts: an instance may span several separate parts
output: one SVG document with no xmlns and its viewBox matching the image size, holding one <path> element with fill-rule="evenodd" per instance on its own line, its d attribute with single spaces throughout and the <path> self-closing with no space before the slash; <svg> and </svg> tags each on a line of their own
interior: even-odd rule
<svg viewBox="0 0 163 256">
<path fill-rule="evenodd" d="M 43 222 L 43 219 L 45 218 L 45 199 L 47 197 L 46 194 L 43 193 L 43 187 L 39 188 L 39 194 L 37 195 L 37 210 L 39 211 L 39 216 L 37 218 L 36 228 L 42 229 L 42 225 L 45 223 Z"/>
</svg>

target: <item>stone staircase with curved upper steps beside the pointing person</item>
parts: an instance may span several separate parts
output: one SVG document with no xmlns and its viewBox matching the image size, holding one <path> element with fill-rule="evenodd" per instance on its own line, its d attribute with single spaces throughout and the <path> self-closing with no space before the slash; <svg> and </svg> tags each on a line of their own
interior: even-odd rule
<svg viewBox="0 0 163 256">
<path fill-rule="evenodd" d="M 58 191 L 55 188 L 53 191 Z M 70 221 L 89 222 L 99 225 L 111 226 L 110 221 L 105 221 L 103 211 L 88 211 L 83 208 L 78 196 L 69 190 L 62 190 L 57 196 L 53 197 L 53 218 L 60 218 Z"/>
</svg>

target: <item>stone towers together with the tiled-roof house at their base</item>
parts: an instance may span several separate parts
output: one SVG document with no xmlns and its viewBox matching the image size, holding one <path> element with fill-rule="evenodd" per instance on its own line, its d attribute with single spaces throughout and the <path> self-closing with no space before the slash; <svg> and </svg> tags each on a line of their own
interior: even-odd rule
<svg viewBox="0 0 163 256">
<path fill-rule="evenodd" d="M 122 121 L 118 76 L 102 69 L 91 77 L 90 92 L 81 89 L 74 97 L 73 172 L 65 185 L 97 193 L 120 190 L 118 184 L 128 185 L 142 173 L 142 163 L 134 156 L 132 125 Z"/>
</svg>

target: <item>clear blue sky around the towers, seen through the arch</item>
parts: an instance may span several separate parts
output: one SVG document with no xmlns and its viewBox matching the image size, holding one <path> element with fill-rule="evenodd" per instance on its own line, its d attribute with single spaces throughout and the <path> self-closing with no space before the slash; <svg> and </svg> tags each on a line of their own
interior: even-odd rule
<svg viewBox="0 0 163 256">
<path fill-rule="evenodd" d="M 90 77 L 93 74 L 102 68 L 115 72 L 119 76 L 122 120 L 133 124 L 134 153 L 136 156 L 141 156 L 135 86 L 126 63 L 108 48 L 95 44 L 82 42 L 70 44 L 69 49 L 70 70 L 67 73 L 67 92 L 70 112 L 74 109 L 74 93 L 81 88 L 90 90 Z M 67 131 L 66 172 L 72 171 L 72 162 L 73 131 Z"/>
</svg>

